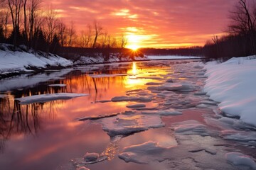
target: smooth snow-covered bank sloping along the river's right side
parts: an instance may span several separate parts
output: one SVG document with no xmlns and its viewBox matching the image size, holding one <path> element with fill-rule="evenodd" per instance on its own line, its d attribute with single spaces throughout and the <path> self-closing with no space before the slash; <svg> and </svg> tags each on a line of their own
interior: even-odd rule
<svg viewBox="0 0 256 170">
<path fill-rule="evenodd" d="M 219 102 L 219 108 L 230 117 L 256 126 L 256 56 L 232 58 L 206 65 L 204 91 Z"/>
</svg>

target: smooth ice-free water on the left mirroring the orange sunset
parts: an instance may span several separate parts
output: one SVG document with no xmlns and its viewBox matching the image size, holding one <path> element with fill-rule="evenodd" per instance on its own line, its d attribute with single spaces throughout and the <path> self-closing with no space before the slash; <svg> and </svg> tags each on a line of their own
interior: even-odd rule
<svg viewBox="0 0 256 170">
<path fill-rule="evenodd" d="M 61 74 L 54 72 L 33 75 L 31 79 L 26 77 L 24 81 L 29 79 L 29 86 L 26 84 L 12 88 L 12 91 L 3 91 L 2 94 L 6 94 L 7 97 L 0 98 L 1 167 L 54 169 L 63 160 L 81 156 L 85 151 L 103 152 L 109 159 L 114 159 L 119 142 L 111 140 L 100 125 L 78 122 L 76 118 L 126 111 L 126 106 L 131 102 L 99 103 L 97 101 L 110 101 L 114 96 L 125 96 L 127 91 L 146 89 L 147 82 L 159 82 L 159 79 L 171 72 L 173 69 L 166 62 L 157 64 L 132 62 L 78 67 L 61 71 Z M 97 74 L 129 75 L 91 77 Z M 41 77 L 40 81 L 39 77 Z M 148 79 L 148 77 L 159 79 Z M 49 84 L 66 84 L 66 86 L 48 86 Z M 23 96 L 55 93 L 83 93 L 90 96 L 24 106 L 14 100 Z M 134 140 L 133 137 L 131 139 Z M 22 149 L 15 149 L 17 145 Z M 14 161 L 6 161 L 11 159 L 16 160 L 16 165 L 11 164 Z M 38 164 L 45 162 L 48 164 L 38 167 Z"/>
</svg>

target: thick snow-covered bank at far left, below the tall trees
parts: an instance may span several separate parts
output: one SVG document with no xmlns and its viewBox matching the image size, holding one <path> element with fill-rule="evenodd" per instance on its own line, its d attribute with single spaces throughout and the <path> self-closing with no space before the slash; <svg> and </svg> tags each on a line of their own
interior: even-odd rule
<svg viewBox="0 0 256 170">
<path fill-rule="evenodd" d="M 47 67 L 68 67 L 73 62 L 58 55 L 48 57 L 38 52 L 26 52 L 22 48 L 11 50 L 11 45 L 0 44 L 0 74 L 11 72 L 31 72 L 29 68 L 46 69 Z"/>
</svg>

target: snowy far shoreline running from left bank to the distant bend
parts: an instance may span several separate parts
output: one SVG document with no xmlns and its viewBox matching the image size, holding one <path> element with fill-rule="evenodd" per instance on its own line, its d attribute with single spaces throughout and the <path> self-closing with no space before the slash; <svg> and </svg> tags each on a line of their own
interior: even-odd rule
<svg viewBox="0 0 256 170">
<path fill-rule="evenodd" d="M 104 57 L 86 57 L 82 56 L 79 60 L 71 61 L 58 55 L 49 54 L 46 57 L 44 52 L 35 52 L 33 50 L 26 50 L 26 47 L 20 46 L 16 50 L 12 45 L 0 44 L 0 79 L 11 77 L 16 74 L 28 72 L 42 72 L 46 69 L 63 69 L 66 67 L 73 67 L 80 64 L 102 64 L 112 62 L 132 62 L 145 60 L 177 60 L 177 59 L 200 59 L 201 57 L 183 57 L 183 56 L 146 56 L 119 59 L 112 56 L 110 60 L 105 61 Z"/>
</svg>

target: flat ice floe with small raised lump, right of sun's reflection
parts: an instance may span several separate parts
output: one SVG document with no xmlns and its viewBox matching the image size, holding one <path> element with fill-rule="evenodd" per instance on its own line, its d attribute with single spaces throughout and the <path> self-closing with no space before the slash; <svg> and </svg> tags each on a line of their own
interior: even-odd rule
<svg viewBox="0 0 256 170">
<path fill-rule="evenodd" d="M 157 90 L 167 91 L 194 91 L 195 87 L 189 82 L 183 83 L 166 83 L 162 86 L 158 86 Z"/>
</svg>

